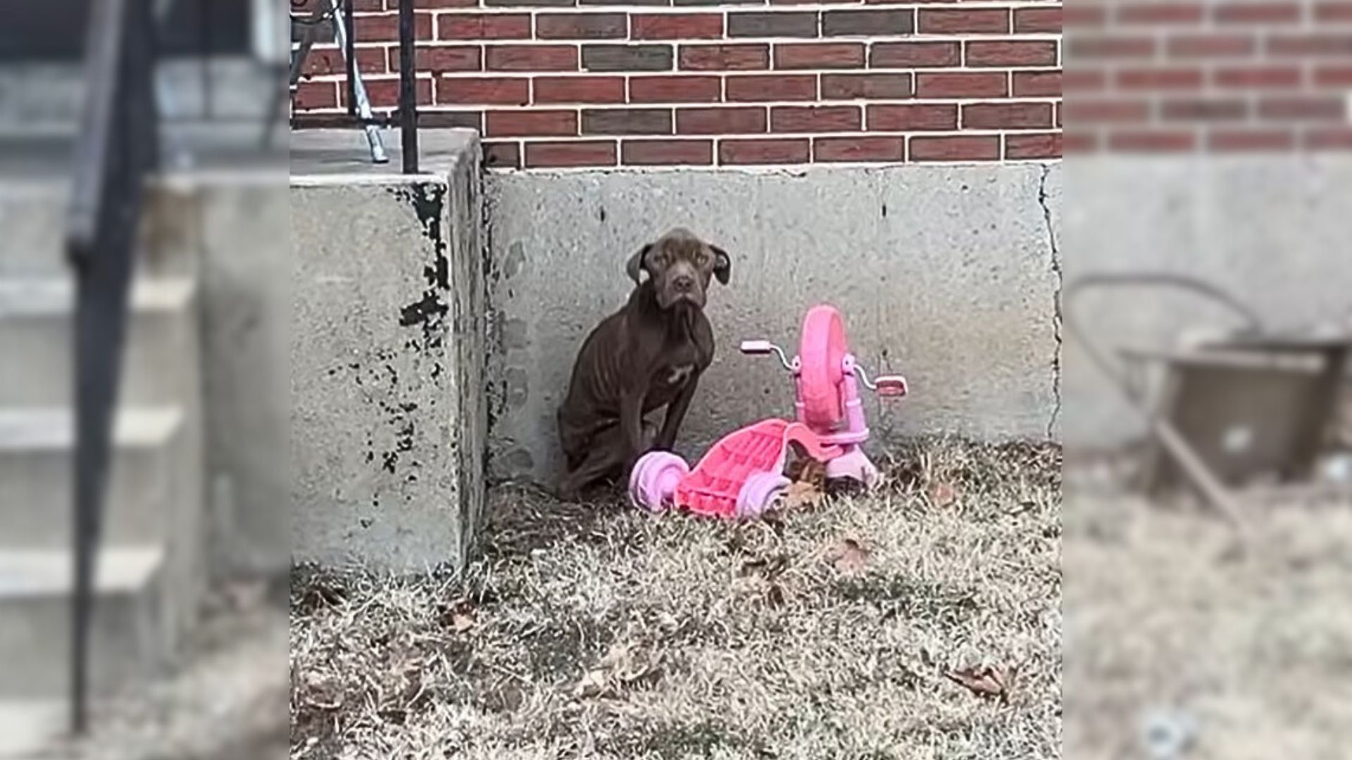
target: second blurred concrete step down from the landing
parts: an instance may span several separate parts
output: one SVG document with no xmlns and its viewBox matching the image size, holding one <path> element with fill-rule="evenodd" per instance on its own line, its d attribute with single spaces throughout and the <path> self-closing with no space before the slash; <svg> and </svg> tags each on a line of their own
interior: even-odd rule
<svg viewBox="0 0 1352 760">
<path fill-rule="evenodd" d="M 176 407 L 118 412 L 104 502 L 108 545 L 166 540 L 169 510 L 197 498 L 174 480 L 188 433 Z M 0 549 L 70 545 L 73 454 L 70 410 L 0 408 Z"/>
</svg>

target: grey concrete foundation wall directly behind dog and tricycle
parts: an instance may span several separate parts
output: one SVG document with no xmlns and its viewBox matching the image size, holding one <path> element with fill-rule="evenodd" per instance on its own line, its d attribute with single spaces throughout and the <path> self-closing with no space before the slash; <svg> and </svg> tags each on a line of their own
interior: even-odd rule
<svg viewBox="0 0 1352 760">
<path fill-rule="evenodd" d="M 818 302 L 844 311 L 871 371 L 911 380 L 910 399 L 868 402 L 880 437 L 1059 435 L 1057 165 L 512 173 L 489 174 L 487 196 L 493 477 L 553 480 L 577 348 L 625 300 L 627 257 L 675 224 L 733 258 L 687 453 L 791 414 L 777 364 L 735 346 L 795 345 Z"/>
</svg>

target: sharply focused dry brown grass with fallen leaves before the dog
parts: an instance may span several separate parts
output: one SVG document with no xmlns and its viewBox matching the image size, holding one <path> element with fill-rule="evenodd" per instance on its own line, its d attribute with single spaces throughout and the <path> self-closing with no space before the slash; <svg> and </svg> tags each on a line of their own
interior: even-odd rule
<svg viewBox="0 0 1352 760">
<path fill-rule="evenodd" d="M 297 571 L 291 756 L 1057 757 L 1059 452 L 896 454 L 742 525 L 500 490 L 462 577 Z"/>
</svg>

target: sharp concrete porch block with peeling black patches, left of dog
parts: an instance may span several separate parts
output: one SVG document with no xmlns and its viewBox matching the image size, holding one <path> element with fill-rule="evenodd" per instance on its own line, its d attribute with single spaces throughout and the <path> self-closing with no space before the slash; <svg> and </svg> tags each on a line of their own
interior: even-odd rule
<svg viewBox="0 0 1352 760">
<path fill-rule="evenodd" d="M 483 508 L 479 143 L 333 173 L 354 137 L 307 134 L 299 170 L 292 143 L 292 556 L 458 567 Z"/>
</svg>

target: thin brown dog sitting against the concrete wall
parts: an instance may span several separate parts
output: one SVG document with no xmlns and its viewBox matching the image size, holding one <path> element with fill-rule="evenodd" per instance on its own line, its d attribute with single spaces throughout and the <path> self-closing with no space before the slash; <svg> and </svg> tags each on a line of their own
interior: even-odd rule
<svg viewBox="0 0 1352 760">
<path fill-rule="evenodd" d="M 714 360 L 714 330 L 704 318 L 708 281 L 726 285 L 731 266 L 723 249 L 683 229 L 629 260 L 638 287 L 587 335 L 558 408 L 568 468 L 561 498 L 625 475 L 650 448 L 675 445 L 699 376 Z M 654 435 L 644 417 L 664 406 L 667 419 Z"/>
</svg>

